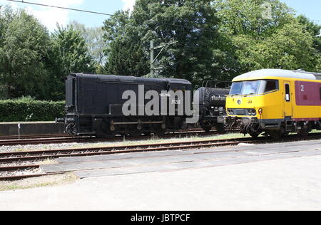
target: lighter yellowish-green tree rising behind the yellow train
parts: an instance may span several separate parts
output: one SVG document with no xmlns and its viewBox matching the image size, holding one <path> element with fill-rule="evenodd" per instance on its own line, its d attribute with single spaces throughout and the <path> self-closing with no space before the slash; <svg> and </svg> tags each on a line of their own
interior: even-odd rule
<svg viewBox="0 0 321 225">
<path fill-rule="evenodd" d="M 240 72 L 260 68 L 318 70 L 314 34 L 285 4 L 278 0 L 244 0 L 242 4 L 216 0 L 214 5 L 223 21 L 220 31 L 232 40 Z M 270 15 L 265 16 L 266 10 Z"/>
</svg>

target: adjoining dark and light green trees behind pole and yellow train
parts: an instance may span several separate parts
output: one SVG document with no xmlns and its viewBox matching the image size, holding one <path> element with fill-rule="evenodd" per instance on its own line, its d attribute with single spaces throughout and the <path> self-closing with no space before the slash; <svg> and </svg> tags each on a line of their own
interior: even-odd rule
<svg viewBox="0 0 321 225">
<path fill-rule="evenodd" d="M 137 0 L 104 25 L 108 73 L 148 74 L 151 40 L 178 41 L 161 53 L 157 74 L 193 83 L 260 68 L 320 72 L 321 26 L 277 0 Z"/>
</svg>

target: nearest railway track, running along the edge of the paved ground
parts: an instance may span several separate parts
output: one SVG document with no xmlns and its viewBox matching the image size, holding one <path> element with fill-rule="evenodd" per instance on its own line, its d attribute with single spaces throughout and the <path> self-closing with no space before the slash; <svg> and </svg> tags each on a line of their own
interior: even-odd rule
<svg viewBox="0 0 321 225">
<path fill-rule="evenodd" d="M 315 140 L 320 139 L 320 133 L 312 134 L 306 138 L 298 138 L 297 135 L 291 135 L 287 137 L 285 142 L 295 140 Z M 39 169 L 41 165 L 34 164 L 45 159 L 56 159 L 59 157 L 83 157 L 83 156 L 96 156 L 96 155 L 115 155 L 125 154 L 132 152 L 153 152 L 153 151 L 168 151 L 168 150 L 195 150 L 203 149 L 207 147 L 224 147 L 235 146 L 240 143 L 247 144 L 263 144 L 275 142 L 272 139 L 266 139 L 265 137 L 253 138 L 237 138 L 237 139 L 225 139 L 225 140 L 205 140 L 205 141 L 193 141 L 193 142 L 170 142 L 161 144 L 148 144 L 148 145 L 130 145 L 130 146 L 113 146 L 113 147 L 92 147 L 92 148 L 79 148 L 79 149 L 66 149 L 66 150 L 41 150 L 41 151 L 29 151 L 29 152 L 4 152 L 0 153 L 0 172 L 5 172 L 6 176 L 0 176 L 1 180 L 17 180 L 29 177 L 41 177 L 44 175 L 41 172 L 28 174 L 28 171 Z M 233 150 L 238 151 L 238 150 Z M 220 152 L 231 152 L 230 150 L 222 150 Z M 24 164 L 29 162 L 31 164 Z M 17 165 L 23 164 L 23 165 Z M 1 166 L 2 165 L 2 166 Z M 5 166 L 4 166 L 5 165 Z M 23 174 L 16 175 L 16 172 Z M 56 173 L 54 173 L 56 174 Z"/>
</svg>

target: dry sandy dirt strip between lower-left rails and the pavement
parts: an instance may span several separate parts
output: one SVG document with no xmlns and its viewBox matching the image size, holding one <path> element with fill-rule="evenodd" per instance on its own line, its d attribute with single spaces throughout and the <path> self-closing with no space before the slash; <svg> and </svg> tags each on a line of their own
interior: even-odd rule
<svg viewBox="0 0 321 225">
<path fill-rule="evenodd" d="M 71 184 L 79 178 L 72 173 L 48 175 L 44 177 L 33 177 L 21 179 L 14 182 L 0 182 L 0 192 L 16 189 L 29 189 L 35 187 L 53 187 L 63 184 Z"/>
</svg>

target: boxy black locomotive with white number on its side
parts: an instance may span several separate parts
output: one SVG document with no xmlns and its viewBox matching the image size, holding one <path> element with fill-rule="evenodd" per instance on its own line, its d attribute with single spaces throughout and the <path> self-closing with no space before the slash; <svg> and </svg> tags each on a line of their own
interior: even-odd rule
<svg viewBox="0 0 321 225">
<path fill-rule="evenodd" d="M 141 90 L 143 85 L 143 91 Z M 131 90 L 137 98 L 135 115 L 123 115 L 123 105 L 128 99 L 123 99 L 123 93 Z M 159 115 L 143 115 L 139 112 L 150 100 L 144 98 L 149 90 L 158 93 L 159 98 L 167 95 L 162 91 L 186 90 L 192 91 L 188 80 L 136 78 L 118 75 L 85 75 L 73 73 L 66 80 L 66 133 L 70 135 L 96 135 L 98 137 L 113 137 L 116 134 L 126 134 L 133 137 L 151 132 L 162 134 L 168 130 L 179 130 L 187 115 L 160 113 Z M 143 97 L 141 96 L 143 95 Z M 184 98 L 185 99 L 185 98 Z M 167 108 L 172 103 L 163 103 L 160 109 Z M 143 104 L 141 104 L 143 103 Z M 163 104 L 167 104 L 166 107 Z M 174 104 L 175 103 L 174 100 Z M 61 121 L 62 122 L 62 121 Z"/>
</svg>

